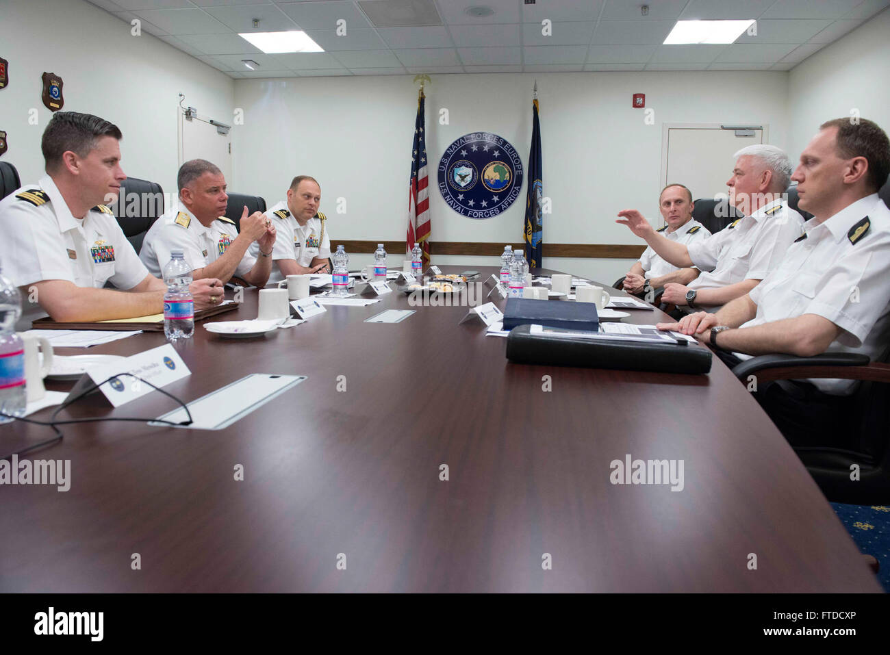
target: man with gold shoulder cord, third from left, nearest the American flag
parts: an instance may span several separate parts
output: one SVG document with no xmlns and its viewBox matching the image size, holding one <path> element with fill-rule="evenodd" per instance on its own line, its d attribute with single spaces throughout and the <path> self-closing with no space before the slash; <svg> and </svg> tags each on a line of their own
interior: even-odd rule
<svg viewBox="0 0 890 655">
<path fill-rule="evenodd" d="M 309 175 L 297 175 L 287 190 L 287 199 L 266 212 L 278 234 L 272 249 L 272 260 L 278 264 L 269 276 L 279 282 L 288 275 L 329 273 L 330 238 L 328 217 L 319 211 L 321 187 Z M 251 247 L 256 253 L 258 247 Z"/>
</svg>

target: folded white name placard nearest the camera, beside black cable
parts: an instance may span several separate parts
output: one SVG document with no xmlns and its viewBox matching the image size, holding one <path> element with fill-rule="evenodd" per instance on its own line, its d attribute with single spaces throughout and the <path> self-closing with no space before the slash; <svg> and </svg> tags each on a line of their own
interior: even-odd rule
<svg viewBox="0 0 890 655">
<path fill-rule="evenodd" d="M 139 376 L 142 380 L 161 388 L 191 375 L 189 367 L 185 365 L 174 347 L 171 344 L 164 344 L 150 351 L 130 355 L 125 360 L 90 367 L 83 376 L 80 376 L 65 400 L 74 398 L 93 384 L 101 384 L 109 377 L 112 378 L 111 381 L 102 384 L 99 392 L 113 407 L 120 407 L 130 400 L 136 400 L 154 391 L 149 384 L 142 384 L 142 381 L 135 377 L 123 375 L 125 373 Z"/>
</svg>

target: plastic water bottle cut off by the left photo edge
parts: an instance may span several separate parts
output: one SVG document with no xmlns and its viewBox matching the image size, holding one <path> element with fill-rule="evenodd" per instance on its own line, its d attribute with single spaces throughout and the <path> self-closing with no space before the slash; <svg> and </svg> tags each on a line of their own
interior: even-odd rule
<svg viewBox="0 0 890 655">
<path fill-rule="evenodd" d="M 15 321 L 21 316 L 21 295 L 12 280 L 0 272 L 0 424 L 12 416 L 24 416 L 28 395 L 25 392 L 25 344 L 15 334 Z"/>
</svg>

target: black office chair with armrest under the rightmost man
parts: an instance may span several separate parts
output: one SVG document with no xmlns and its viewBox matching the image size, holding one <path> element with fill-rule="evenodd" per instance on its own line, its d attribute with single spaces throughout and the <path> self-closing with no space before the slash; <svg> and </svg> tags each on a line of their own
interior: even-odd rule
<svg viewBox="0 0 890 655">
<path fill-rule="evenodd" d="M 861 380 L 854 393 L 855 410 L 847 417 L 850 429 L 843 435 L 849 447 L 795 451 L 830 501 L 857 505 L 890 503 L 890 364 L 886 355 L 878 362 L 853 353 L 816 357 L 761 355 L 737 364 L 732 373 L 742 384 L 748 384 L 748 376 L 756 376 L 761 391 L 774 380 Z M 858 481 L 850 479 L 853 465 L 859 467 Z"/>
</svg>

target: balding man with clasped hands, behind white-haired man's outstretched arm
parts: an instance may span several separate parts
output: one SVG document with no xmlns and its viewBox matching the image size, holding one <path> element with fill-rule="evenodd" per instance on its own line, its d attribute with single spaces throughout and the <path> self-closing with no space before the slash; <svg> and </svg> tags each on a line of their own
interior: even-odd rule
<svg viewBox="0 0 890 655">
<path fill-rule="evenodd" d="M 659 195 L 659 211 L 666 225 L 655 231 L 666 239 L 686 246 L 696 239 L 707 239 L 711 234 L 708 228 L 692 218 L 694 207 L 691 190 L 683 184 L 668 184 Z M 664 287 L 668 282 L 689 284 L 698 275 L 698 269 L 678 269 L 661 258 L 650 246 L 643 251 L 640 260 L 630 271 L 627 271 L 624 290 L 628 294 L 642 294 L 646 287 L 656 289 Z"/>
</svg>

